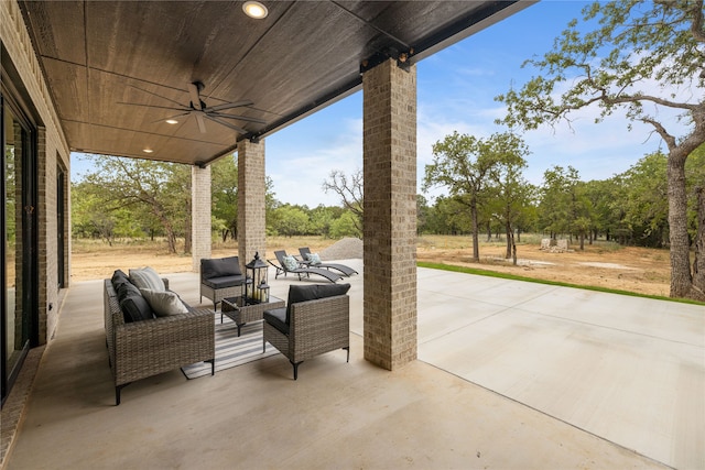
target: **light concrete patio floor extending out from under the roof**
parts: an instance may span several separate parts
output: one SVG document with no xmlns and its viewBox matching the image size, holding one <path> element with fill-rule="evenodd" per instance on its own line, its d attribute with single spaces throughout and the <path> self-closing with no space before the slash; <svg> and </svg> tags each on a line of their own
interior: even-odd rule
<svg viewBox="0 0 705 470">
<path fill-rule="evenodd" d="M 196 274 L 169 277 L 198 305 Z M 419 360 L 388 372 L 362 359 L 349 282 L 349 364 L 175 370 L 120 406 L 101 281 L 75 283 L 6 468 L 705 468 L 703 307 L 420 269 Z"/>
</svg>

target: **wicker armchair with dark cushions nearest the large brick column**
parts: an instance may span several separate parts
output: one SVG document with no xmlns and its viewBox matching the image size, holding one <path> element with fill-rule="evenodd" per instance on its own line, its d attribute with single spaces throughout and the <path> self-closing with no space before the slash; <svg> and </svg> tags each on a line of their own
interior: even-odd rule
<svg viewBox="0 0 705 470">
<path fill-rule="evenodd" d="M 349 284 L 292 285 L 286 308 L 264 311 L 262 351 L 267 350 L 269 341 L 284 354 L 294 368 L 294 380 L 299 378 L 299 365 L 303 361 L 324 352 L 345 349 L 349 362 L 350 297 L 345 295 L 349 287 Z M 323 298 L 294 302 L 301 296 L 296 298 L 292 291 L 300 288 L 313 288 L 318 292 L 314 295 Z M 325 293 L 321 294 L 323 291 Z"/>
</svg>

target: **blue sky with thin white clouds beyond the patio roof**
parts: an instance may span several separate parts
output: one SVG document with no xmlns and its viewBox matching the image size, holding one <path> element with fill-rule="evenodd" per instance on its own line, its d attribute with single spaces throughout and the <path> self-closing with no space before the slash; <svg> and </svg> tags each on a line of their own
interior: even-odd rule
<svg viewBox="0 0 705 470">
<path fill-rule="evenodd" d="M 582 18 L 587 2 L 544 0 L 420 62 L 417 74 L 417 192 L 431 147 L 458 131 L 478 138 L 506 129 L 495 97 L 520 88 L 535 70 L 522 69 L 532 56 L 549 52 L 570 20 Z M 575 114 L 572 129 L 558 125 L 525 132 L 531 154 L 524 173 L 540 184 L 552 165 L 572 165 L 583 181 L 606 179 L 628 170 L 644 154 L 663 147 L 646 125 L 627 129 L 620 116 L 596 124 L 595 110 Z M 362 168 L 362 92 L 359 91 L 265 139 L 267 174 L 282 203 L 338 205 L 323 182 L 333 170 L 351 174 Z M 76 165 L 74 175 L 84 171 Z M 433 189 L 427 197 L 442 194 Z"/>
</svg>

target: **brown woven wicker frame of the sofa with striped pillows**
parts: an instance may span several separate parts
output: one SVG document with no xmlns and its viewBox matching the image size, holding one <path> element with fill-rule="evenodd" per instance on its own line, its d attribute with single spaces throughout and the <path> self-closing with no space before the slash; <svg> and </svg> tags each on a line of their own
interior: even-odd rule
<svg viewBox="0 0 705 470">
<path fill-rule="evenodd" d="M 169 288 L 167 280 L 164 285 Z M 120 391 L 140 379 L 200 361 L 210 362 L 212 374 L 215 373 L 212 310 L 194 309 L 184 304 L 187 313 L 128 323 L 112 280 L 105 280 L 104 304 L 116 405 L 120 404 Z"/>
</svg>

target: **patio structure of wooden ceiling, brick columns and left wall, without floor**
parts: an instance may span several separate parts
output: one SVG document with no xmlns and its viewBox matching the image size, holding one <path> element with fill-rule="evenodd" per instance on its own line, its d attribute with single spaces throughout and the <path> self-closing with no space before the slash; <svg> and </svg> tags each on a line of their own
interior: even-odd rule
<svg viewBox="0 0 705 470">
<path fill-rule="evenodd" d="M 237 153 L 245 263 L 268 255 L 267 136 L 360 90 L 364 356 L 387 370 L 416 359 L 416 63 L 534 1 L 249 3 L 0 3 L 3 145 L 21 156 L 6 168 L 26 179 L 3 206 L 26 239 L 3 252 L 3 404 L 72 287 L 70 152 L 189 165 L 194 271 L 212 254 L 209 164 Z"/>
</svg>

